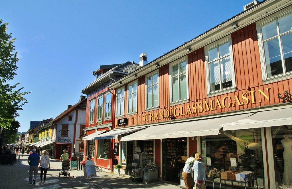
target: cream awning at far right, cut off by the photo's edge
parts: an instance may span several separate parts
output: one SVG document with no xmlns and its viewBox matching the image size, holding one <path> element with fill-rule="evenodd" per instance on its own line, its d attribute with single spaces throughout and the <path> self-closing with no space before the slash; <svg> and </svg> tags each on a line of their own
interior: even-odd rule
<svg viewBox="0 0 292 189">
<path fill-rule="evenodd" d="M 292 108 L 259 111 L 247 118 L 224 124 L 223 130 L 251 129 L 279 125 L 292 125 Z"/>
</svg>

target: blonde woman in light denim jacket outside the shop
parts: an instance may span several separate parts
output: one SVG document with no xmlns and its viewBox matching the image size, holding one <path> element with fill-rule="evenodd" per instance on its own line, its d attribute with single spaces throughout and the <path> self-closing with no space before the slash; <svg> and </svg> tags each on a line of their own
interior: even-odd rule
<svg viewBox="0 0 292 189">
<path fill-rule="evenodd" d="M 195 154 L 194 162 L 194 189 L 206 189 L 206 169 L 202 162 L 202 154 Z"/>
</svg>

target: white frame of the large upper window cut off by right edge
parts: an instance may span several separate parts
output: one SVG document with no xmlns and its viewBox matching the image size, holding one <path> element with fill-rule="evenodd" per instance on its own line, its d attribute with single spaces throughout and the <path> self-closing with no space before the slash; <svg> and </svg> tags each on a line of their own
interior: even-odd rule
<svg viewBox="0 0 292 189">
<path fill-rule="evenodd" d="M 266 67 L 266 60 L 265 60 L 265 52 L 264 52 L 264 47 L 263 47 L 263 36 L 262 36 L 262 28 L 261 25 L 265 24 L 267 22 L 270 22 L 272 20 L 275 20 L 276 18 L 283 16 L 285 14 L 291 13 L 292 8 L 288 8 L 286 10 L 283 11 L 279 11 L 278 13 L 272 14 L 270 16 L 268 16 L 267 18 L 260 20 L 259 22 L 256 22 L 256 28 L 257 28 L 257 34 L 258 34 L 258 46 L 259 46 L 259 50 L 260 50 L 260 64 L 261 64 L 261 68 L 262 68 L 262 78 L 263 78 L 263 83 L 272 83 L 272 82 L 276 82 L 276 81 L 281 81 L 284 79 L 288 79 L 292 77 L 292 73 L 291 72 L 286 72 L 284 71 L 284 55 L 283 55 L 283 50 L 282 50 L 282 43 L 281 40 L 279 40 L 279 45 L 280 45 L 280 52 L 281 52 L 281 60 L 282 60 L 282 65 L 283 65 L 283 74 L 281 75 L 277 75 L 277 76 L 272 76 L 269 77 L 267 76 L 267 67 Z M 276 24 L 277 24 L 277 31 L 279 30 L 279 24 L 278 24 L 278 20 L 276 20 Z M 290 31 L 286 31 L 283 34 L 278 34 L 277 36 L 274 36 L 272 38 L 280 38 L 281 36 L 288 34 L 292 32 Z M 265 41 L 269 41 L 271 38 L 264 40 Z"/>
</svg>

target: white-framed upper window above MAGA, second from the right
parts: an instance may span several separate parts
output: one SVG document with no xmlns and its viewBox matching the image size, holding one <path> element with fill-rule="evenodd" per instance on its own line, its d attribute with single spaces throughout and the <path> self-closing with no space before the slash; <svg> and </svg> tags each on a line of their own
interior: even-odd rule
<svg viewBox="0 0 292 189">
<path fill-rule="evenodd" d="M 207 93 L 235 88 L 231 36 L 205 47 Z"/>
</svg>

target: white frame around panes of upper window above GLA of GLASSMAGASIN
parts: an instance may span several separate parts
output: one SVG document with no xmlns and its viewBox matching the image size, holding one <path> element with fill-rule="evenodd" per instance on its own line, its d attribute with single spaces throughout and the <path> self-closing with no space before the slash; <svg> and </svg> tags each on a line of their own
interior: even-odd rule
<svg viewBox="0 0 292 189">
<path fill-rule="evenodd" d="M 187 92 L 187 98 L 186 99 L 180 99 L 178 101 L 172 101 L 172 83 L 171 83 L 171 79 L 172 79 L 172 70 L 171 67 L 174 64 L 179 64 L 180 62 L 185 62 L 186 64 L 186 76 L 187 76 L 187 86 L 186 86 L 186 92 Z M 179 74 L 181 75 L 181 74 Z M 177 105 L 177 104 L 183 104 L 185 102 L 189 101 L 189 73 L 188 73 L 188 62 L 187 62 L 187 56 L 184 56 L 172 63 L 169 64 L 169 104 L 170 105 Z"/>
</svg>

